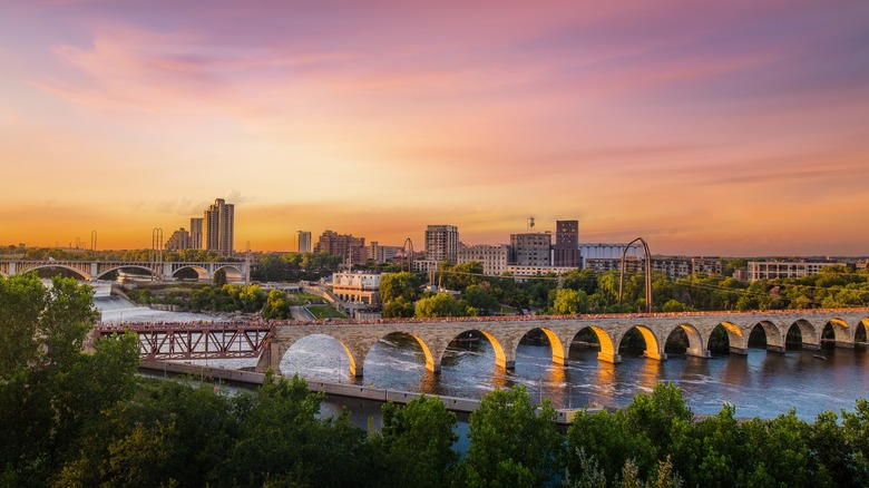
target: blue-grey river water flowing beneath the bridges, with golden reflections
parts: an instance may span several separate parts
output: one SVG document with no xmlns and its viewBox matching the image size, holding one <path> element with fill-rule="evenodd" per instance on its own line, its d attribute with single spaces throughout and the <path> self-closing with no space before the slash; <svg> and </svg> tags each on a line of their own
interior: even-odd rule
<svg viewBox="0 0 869 488">
<path fill-rule="evenodd" d="M 136 308 L 123 299 L 98 293 L 95 303 L 104 320 L 202 320 L 202 314 L 157 312 Z M 208 319 L 207 316 L 205 316 Z M 768 352 L 750 348 L 746 355 L 709 359 L 671 355 L 666 361 L 626 357 L 611 364 L 597 360 L 597 351 L 573 347 L 565 365 L 554 364 L 548 345 L 521 342 L 515 370 L 495 365 L 495 351 L 486 339 L 451 344 L 436 374 L 426 369 L 422 350 L 409 336 L 389 335 L 372 348 L 363 364 L 363 378 L 350 377 L 341 344 L 326 335 L 311 335 L 290 348 L 281 361 L 285 375 L 297 373 L 312 380 L 373 384 L 390 390 L 482 398 L 496 388 L 525 385 L 533 400 L 548 399 L 556 408 L 585 406 L 624 407 L 638 392 L 660 382 L 682 388 L 692 411 L 717 413 L 732 403 L 738 417 L 773 418 L 795 409 L 811 421 L 824 410 L 853 410 L 858 398 L 869 398 L 869 357 L 865 348 Z M 213 365 L 250 367 L 255 360 L 209 360 Z M 334 404 L 332 404 L 334 403 Z M 336 401 L 326 410 L 348 406 L 354 416 L 368 416 L 377 407 L 365 402 Z M 364 424 L 364 422 L 363 422 Z"/>
</svg>

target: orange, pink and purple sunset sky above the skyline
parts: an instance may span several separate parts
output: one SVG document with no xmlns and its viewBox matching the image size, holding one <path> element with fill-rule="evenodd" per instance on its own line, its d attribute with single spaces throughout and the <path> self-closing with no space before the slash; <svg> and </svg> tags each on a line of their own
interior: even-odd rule
<svg viewBox="0 0 869 488">
<path fill-rule="evenodd" d="M 0 245 L 869 254 L 869 2 L 0 2 Z"/>
</svg>

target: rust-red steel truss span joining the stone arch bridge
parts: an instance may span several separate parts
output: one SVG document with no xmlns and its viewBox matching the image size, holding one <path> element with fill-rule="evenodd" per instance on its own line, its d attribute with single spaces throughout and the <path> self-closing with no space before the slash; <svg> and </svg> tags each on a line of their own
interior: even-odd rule
<svg viewBox="0 0 869 488">
<path fill-rule="evenodd" d="M 262 322 L 139 322 L 105 323 L 94 329 L 94 340 L 135 332 L 145 359 L 258 358 L 274 335 Z"/>
</svg>

